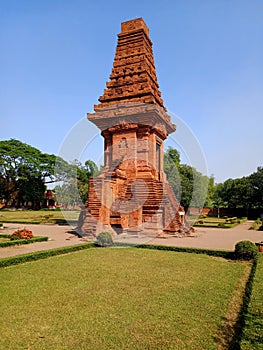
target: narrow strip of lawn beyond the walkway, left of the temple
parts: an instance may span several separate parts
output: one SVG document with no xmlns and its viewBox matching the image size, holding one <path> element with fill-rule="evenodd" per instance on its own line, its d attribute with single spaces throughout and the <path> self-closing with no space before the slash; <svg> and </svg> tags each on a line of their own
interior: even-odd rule
<svg viewBox="0 0 263 350">
<path fill-rule="evenodd" d="M 0 210 L 0 222 L 21 222 L 21 223 L 66 223 L 76 222 L 79 211 L 59 210 Z"/>
</svg>

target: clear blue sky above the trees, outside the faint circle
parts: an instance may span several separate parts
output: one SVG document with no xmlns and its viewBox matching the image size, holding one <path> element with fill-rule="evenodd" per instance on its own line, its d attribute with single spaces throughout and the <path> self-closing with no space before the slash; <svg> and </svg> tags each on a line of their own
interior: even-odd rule
<svg viewBox="0 0 263 350">
<path fill-rule="evenodd" d="M 222 182 L 256 171 L 261 0 L 0 0 L 0 138 L 58 154 L 103 93 L 121 22 L 136 17 L 150 29 L 165 105 L 198 139 L 208 175 Z M 98 138 L 87 158 L 102 150 Z"/>
</svg>

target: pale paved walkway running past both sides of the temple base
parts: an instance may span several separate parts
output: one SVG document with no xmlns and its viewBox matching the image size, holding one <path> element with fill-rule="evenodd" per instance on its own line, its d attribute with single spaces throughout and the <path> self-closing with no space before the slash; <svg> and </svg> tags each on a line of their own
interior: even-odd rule
<svg viewBox="0 0 263 350">
<path fill-rule="evenodd" d="M 191 237 L 168 237 L 168 238 L 148 238 L 131 237 L 126 238 L 127 243 L 150 243 L 159 245 L 171 245 L 177 247 L 209 248 L 234 250 L 238 241 L 249 240 L 252 242 L 263 241 L 263 231 L 249 230 L 253 221 L 236 226 L 232 229 L 220 228 L 196 228 L 196 232 Z M 0 258 L 47 250 L 61 248 L 86 242 L 77 237 L 72 232 L 70 226 L 60 225 L 24 225 L 24 224 L 5 224 L 5 228 L 0 233 L 12 233 L 18 228 L 29 228 L 35 236 L 47 236 L 47 242 L 37 242 L 21 246 L 0 248 Z"/>
</svg>

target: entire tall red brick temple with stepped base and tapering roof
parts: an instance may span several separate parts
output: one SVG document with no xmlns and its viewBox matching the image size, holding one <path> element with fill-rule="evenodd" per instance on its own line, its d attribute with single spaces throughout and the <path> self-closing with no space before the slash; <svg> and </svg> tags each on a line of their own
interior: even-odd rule
<svg viewBox="0 0 263 350">
<path fill-rule="evenodd" d="M 121 24 L 110 81 L 88 114 L 104 137 L 104 170 L 89 181 L 78 223 L 83 236 L 187 232 L 163 170 L 164 140 L 176 130 L 161 98 L 149 29 Z"/>
</svg>

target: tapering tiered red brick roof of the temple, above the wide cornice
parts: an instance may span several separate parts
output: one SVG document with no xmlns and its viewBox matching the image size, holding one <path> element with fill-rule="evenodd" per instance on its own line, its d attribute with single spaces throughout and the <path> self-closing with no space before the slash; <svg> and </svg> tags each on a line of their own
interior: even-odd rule
<svg viewBox="0 0 263 350">
<path fill-rule="evenodd" d="M 94 110 L 140 102 L 164 107 L 156 77 L 149 29 L 142 18 L 121 24 L 110 81 Z"/>
</svg>

